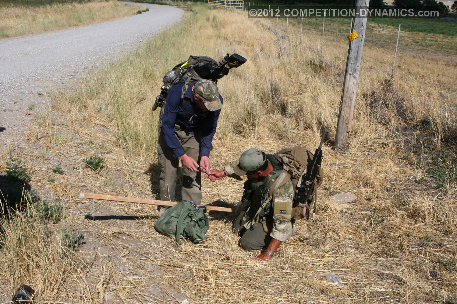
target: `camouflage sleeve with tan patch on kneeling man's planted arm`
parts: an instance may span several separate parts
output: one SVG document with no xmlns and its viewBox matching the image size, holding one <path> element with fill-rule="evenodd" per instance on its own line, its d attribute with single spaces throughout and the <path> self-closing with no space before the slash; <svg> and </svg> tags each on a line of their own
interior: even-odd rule
<svg viewBox="0 0 457 304">
<path fill-rule="evenodd" d="M 289 180 L 273 193 L 273 229 L 270 236 L 284 242 L 292 236 L 293 186 Z"/>
</svg>

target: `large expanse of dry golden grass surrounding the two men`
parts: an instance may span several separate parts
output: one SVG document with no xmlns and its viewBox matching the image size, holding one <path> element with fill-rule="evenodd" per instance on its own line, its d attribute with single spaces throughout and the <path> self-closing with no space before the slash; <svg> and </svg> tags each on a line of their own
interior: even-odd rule
<svg viewBox="0 0 457 304">
<path fill-rule="evenodd" d="M 402 58 L 389 86 L 384 79 L 392 55 L 378 48 L 364 49 L 350 151 L 338 154 L 323 147 L 326 179 L 316 220 L 297 222 L 295 235 L 268 263 L 250 260 L 256 253 L 239 248 L 230 229 L 232 214 L 210 213 L 208 241 L 175 248 L 172 239 L 154 231 L 154 207 L 77 198 L 79 192 L 138 197 L 158 192 L 158 173 L 150 165 L 159 113 L 150 108 L 163 74 L 190 54 L 219 58 L 237 52 L 248 58 L 219 82 L 224 108 L 213 141 L 214 168 L 253 146 L 266 152 L 296 144 L 315 149 L 322 127 L 329 129 L 330 139 L 334 136 L 347 42 L 329 39 L 320 57 L 318 31 L 300 40 L 299 29 L 291 25 L 284 36 L 281 23 L 276 33 L 244 13 L 192 9 L 198 14 L 188 14 L 73 94 L 56 93 L 53 107 L 60 112 L 38 118 L 24 134 L 27 145 L 11 144 L 24 165 L 36 170 L 32 187 L 68 203 L 66 219 L 58 225 L 82 227 L 87 242 L 66 264 L 64 282 L 58 283 L 53 270 L 55 291 L 40 293 L 38 302 L 453 303 L 455 180 L 438 187 L 425 172 L 426 149 L 424 158 L 414 153 L 428 140 L 444 144 L 446 130 L 456 126 L 455 94 L 426 87 L 417 78 L 438 87 L 452 82 L 436 75 L 421 78 L 406 70 L 417 69 L 417 61 Z M 181 43 L 183 36 L 191 36 L 191 42 Z M 452 66 L 421 65 L 457 76 Z M 417 127 L 424 119 L 430 121 L 428 137 Z M 86 169 L 82 160 L 101 152 L 105 168 Z M 52 173 L 58 164 L 64 175 Z M 49 176 L 55 182 L 47 182 Z M 234 206 L 242 184 L 204 180 L 203 199 Z M 358 200 L 349 205 L 329 200 L 339 192 Z M 92 220 L 85 218 L 88 213 Z M 78 257 L 89 261 L 85 267 L 78 266 Z M 0 268 L 9 262 L 0 256 Z M 35 272 L 42 269 L 37 266 Z M 12 273 L 0 273 L 2 281 L 11 282 L 0 287 L 2 299 L 19 282 L 49 290 L 29 280 L 26 270 L 14 279 Z M 328 283 L 329 272 L 344 285 Z"/>
</svg>

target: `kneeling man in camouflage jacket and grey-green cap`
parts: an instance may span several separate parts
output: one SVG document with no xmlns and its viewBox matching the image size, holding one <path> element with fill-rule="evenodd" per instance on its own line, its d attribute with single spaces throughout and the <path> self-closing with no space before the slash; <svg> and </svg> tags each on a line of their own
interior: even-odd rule
<svg viewBox="0 0 457 304">
<path fill-rule="evenodd" d="M 290 175 L 283 174 L 283 166 L 274 155 L 254 148 L 244 151 L 238 161 L 223 170 L 209 173 L 213 181 L 247 175 L 241 201 L 248 201 L 249 206 L 239 214 L 233 230 L 241 237 L 244 250 L 265 249 L 253 259 L 271 259 L 279 245 L 292 237 L 294 189 Z"/>
</svg>

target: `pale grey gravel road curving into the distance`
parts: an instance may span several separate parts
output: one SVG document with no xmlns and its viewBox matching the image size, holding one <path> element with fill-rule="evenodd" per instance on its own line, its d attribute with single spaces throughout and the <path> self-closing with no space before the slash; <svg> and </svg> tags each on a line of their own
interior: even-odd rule
<svg viewBox="0 0 457 304">
<path fill-rule="evenodd" d="M 116 59 L 184 15 L 183 10 L 167 5 L 122 3 L 146 6 L 149 12 L 0 40 L 0 151 L 18 140 L 32 122 L 32 114 L 48 110 L 48 100 L 41 93 L 74 84 L 78 77 Z M 33 110 L 29 110 L 31 104 Z"/>
</svg>

